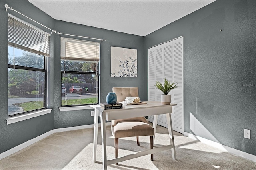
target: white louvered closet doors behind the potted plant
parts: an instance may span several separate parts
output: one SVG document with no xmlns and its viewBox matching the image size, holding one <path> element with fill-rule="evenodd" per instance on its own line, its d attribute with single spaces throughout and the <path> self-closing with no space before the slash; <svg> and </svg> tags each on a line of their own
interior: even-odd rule
<svg viewBox="0 0 256 170">
<path fill-rule="evenodd" d="M 183 133 L 183 37 L 148 49 L 148 100 L 161 101 L 162 92 L 154 87 L 164 78 L 178 83 L 179 88 L 171 91 L 173 107 L 172 126 Z M 153 122 L 153 116 L 149 117 Z M 168 127 L 165 115 L 158 115 L 158 125 Z"/>
</svg>

